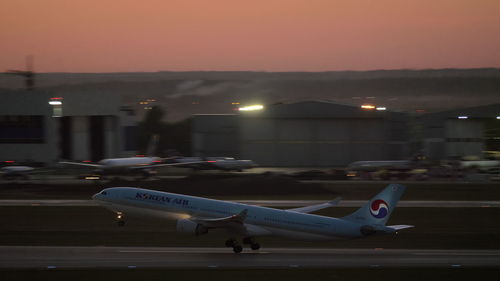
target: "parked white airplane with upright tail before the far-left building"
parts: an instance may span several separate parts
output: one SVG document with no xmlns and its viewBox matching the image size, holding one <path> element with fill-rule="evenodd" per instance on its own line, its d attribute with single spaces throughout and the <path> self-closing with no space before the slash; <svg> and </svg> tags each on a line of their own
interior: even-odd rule
<svg viewBox="0 0 500 281">
<path fill-rule="evenodd" d="M 156 145 L 158 143 L 158 136 L 154 135 L 148 145 L 148 152 L 146 155 L 153 155 Z M 202 164 L 205 161 L 191 161 L 183 163 L 163 163 L 165 159 L 154 156 L 136 156 L 136 157 L 124 157 L 124 158 L 108 158 L 103 159 L 97 163 L 86 163 L 86 162 L 69 162 L 61 161 L 61 164 L 76 165 L 84 167 L 92 167 L 95 169 L 95 173 L 99 175 L 123 175 L 130 173 L 140 172 L 144 178 L 148 178 L 155 174 L 155 168 L 165 167 L 165 166 L 185 166 L 193 164 Z"/>
</svg>

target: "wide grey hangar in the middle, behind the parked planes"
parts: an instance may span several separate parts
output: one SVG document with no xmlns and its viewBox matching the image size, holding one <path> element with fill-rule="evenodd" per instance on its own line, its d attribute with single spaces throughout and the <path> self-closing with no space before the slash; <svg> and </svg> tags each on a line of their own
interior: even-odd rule
<svg viewBox="0 0 500 281">
<path fill-rule="evenodd" d="M 409 158 L 409 118 L 328 101 L 273 104 L 235 115 L 196 115 L 193 153 L 261 166 L 336 167 Z"/>
</svg>

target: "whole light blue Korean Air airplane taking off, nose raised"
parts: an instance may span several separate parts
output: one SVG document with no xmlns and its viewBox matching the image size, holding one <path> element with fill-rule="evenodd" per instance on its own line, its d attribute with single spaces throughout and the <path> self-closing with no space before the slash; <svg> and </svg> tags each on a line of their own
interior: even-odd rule
<svg viewBox="0 0 500 281">
<path fill-rule="evenodd" d="M 177 219 L 178 232 L 195 236 L 212 229 L 225 229 L 229 236 L 226 247 L 240 253 L 243 244 L 252 250 L 260 248 L 255 238 L 278 236 L 308 241 L 362 238 L 393 234 L 412 225 L 388 225 L 396 204 L 406 187 L 390 184 L 354 213 L 342 218 L 310 214 L 336 205 L 336 200 L 288 210 L 253 206 L 136 187 L 112 187 L 92 196 L 101 206 L 117 215 L 124 226 L 125 215 L 147 215 Z"/>
</svg>

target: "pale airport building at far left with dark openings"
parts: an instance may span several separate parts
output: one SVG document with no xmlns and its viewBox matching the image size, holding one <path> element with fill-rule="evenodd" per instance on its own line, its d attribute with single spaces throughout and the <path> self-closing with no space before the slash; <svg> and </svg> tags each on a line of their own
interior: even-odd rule
<svg viewBox="0 0 500 281">
<path fill-rule="evenodd" d="M 1 98 L 0 161 L 98 161 L 136 151 L 136 117 L 116 96 L 16 90 Z"/>
</svg>

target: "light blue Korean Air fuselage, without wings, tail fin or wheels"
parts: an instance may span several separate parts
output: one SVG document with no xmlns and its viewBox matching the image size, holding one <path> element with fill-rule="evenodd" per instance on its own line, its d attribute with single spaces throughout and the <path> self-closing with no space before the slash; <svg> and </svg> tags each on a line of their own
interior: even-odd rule
<svg viewBox="0 0 500 281">
<path fill-rule="evenodd" d="M 93 199 L 117 213 L 162 218 L 224 218 L 247 210 L 244 231 L 236 233 L 241 236 L 275 235 L 300 240 L 364 236 L 359 223 L 343 219 L 133 187 L 108 188 Z"/>
</svg>

